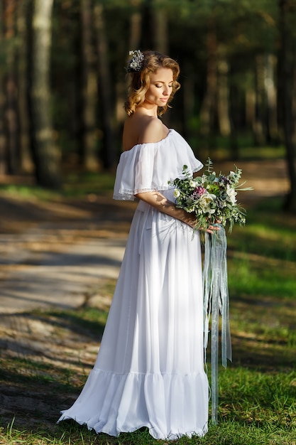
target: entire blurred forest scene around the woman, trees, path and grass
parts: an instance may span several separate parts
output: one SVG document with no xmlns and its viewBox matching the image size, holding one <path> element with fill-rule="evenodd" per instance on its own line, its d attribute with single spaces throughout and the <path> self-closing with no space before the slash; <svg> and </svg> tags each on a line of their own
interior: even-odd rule
<svg viewBox="0 0 296 445">
<path fill-rule="evenodd" d="M 0 0 L 1 443 L 155 443 L 55 425 L 109 311 L 104 246 L 124 245 L 135 208 L 111 200 L 124 67 L 153 48 L 181 67 L 165 124 L 254 188 L 228 237 L 234 362 L 219 372 L 219 424 L 178 443 L 295 445 L 295 19 L 295 0 Z M 20 289 L 55 307 L 23 309 Z"/>
</svg>

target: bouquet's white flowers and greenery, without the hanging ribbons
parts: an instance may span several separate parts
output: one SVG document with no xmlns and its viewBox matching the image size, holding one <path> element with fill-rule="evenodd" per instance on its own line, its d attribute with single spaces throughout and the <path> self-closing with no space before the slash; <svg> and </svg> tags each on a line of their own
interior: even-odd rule
<svg viewBox="0 0 296 445">
<path fill-rule="evenodd" d="M 207 160 L 206 168 L 202 176 L 193 178 L 187 166 L 183 166 L 183 178 L 175 178 L 171 181 L 171 184 L 175 186 L 176 205 L 188 213 L 195 213 L 197 229 L 220 220 L 224 226 L 229 224 L 229 232 L 231 232 L 234 223 L 239 223 L 239 225 L 246 223 L 246 210 L 237 203 L 237 192 L 252 190 L 252 188 L 242 188 L 244 183 L 239 184 L 240 168 L 235 167 L 228 176 L 221 173 L 216 176 L 216 173 L 212 171 L 211 159 Z"/>
</svg>

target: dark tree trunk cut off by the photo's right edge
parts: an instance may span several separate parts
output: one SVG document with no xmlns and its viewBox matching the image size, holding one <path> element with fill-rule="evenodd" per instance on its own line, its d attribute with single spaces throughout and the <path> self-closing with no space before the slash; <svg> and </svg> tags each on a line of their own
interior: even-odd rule
<svg viewBox="0 0 296 445">
<path fill-rule="evenodd" d="M 290 192 L 287 195 L 285 207 L 287 210 L 296 212 L 296 171 L 295 171 L 295 146 L 293 144 L 293 117 L 292 114 L 292 79 L 293 65 L 295 63 L 295 48 L 289 43 L 292 42 L 287 19 L 290 12 L 288 0 L 279 0 L 280 9 L 280 87 L 282 97 L 283 130 L 285 135 L 285 148 L 287 171 L 290 178 Z"/>
</svg>

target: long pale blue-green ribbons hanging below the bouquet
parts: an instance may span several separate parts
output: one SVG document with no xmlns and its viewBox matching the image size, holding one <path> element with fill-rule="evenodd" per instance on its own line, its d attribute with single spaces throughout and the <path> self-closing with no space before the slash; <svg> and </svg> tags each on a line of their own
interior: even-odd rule
<svg viewBox="0 0 296 445">
<path fill-rule="evenodd" d="M 229 326 L 229 292 L 227 282 L 227 240 L 221 224 L 213 235 L 205 233 L 204 245 L 204 362 L 211 324 L 211 367 L 212 367 L 212 422 L 218 418 L 218 355 L 219 355 L 219 314 L 221 314 L 221 359 L 224 368 L 227 359 L 232 360 Z"/>
</svg>

